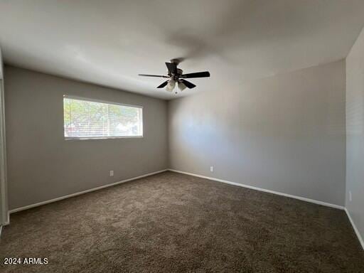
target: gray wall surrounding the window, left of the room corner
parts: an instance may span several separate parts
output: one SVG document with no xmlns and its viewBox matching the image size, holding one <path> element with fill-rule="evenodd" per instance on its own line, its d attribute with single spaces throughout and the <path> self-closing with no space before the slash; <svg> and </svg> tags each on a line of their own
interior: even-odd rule
<svg viewBox="0 0 364 273">
<path fill-rule="evenodd" d="M 166 101 L 11 66 L 5 77 L 10 209 L 168 167 Z M 143 106 L 144 138 L 65 141 L 64 94 Z"/>
</svg>

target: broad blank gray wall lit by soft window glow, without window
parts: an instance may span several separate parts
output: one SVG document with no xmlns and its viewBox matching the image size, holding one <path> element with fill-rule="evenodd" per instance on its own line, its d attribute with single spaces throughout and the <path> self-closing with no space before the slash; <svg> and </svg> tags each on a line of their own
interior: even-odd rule
<svg viewBox="0 0 364 273">
<path fill-rule="evenodd" d="M 173 100 L 170 166 L 344 205 L 345 80 L 341 60 Z"/>
</svg>

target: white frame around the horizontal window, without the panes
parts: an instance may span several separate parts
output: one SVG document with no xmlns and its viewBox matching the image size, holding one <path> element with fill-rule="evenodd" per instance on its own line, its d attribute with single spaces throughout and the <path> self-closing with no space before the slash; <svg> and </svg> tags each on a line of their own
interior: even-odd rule
<svg viewBox="0 0 364 273">
<path fill-rule="evenodd" d="M 142 139 L 144 137 L 144 107 L 141 105 L 129 105 L 125 103 L 119 103 L 119 102 L 110 102 L 107 100 L 97 100 L 97 99 L 91 99 L 88 97 L 78 97 L 74 95 L 63 95 L 62 103 L 64 103 L 64 99 L 71 99 L 71 100 L 84 100 L 86 102 L 100 102 L 100 103 L 106 103 L 108 105 L 121 105 L 121 106 L 127 106 L 127 107 L 135 107 L 141 109 L 141 136 L 124 136 L 124 137 L 65 137 L 65 112 L 64 112 L 64 105 L 63 105 L 63 137 L 65 140 L 97 140 L 97 139 Z"/>
</svg>

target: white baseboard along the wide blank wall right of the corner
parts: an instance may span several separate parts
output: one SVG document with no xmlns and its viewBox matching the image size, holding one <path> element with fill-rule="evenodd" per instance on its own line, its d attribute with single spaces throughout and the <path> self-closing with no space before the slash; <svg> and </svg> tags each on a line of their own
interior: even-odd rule
<svg viewBox="0 0 364 273">
<path fill-rule="evenodd" d="M 236 183 L 236 182 L 231 182 L 231 181 L 218 179 L 218 178 L 213 178 L 213 177 L 209 177 L 209 176 L 200 176 L 199 174 L 196 174 L 196 173 L 187 173 L 186 171 L 177 171 L 177 170 L 174 170 L 172 168 L 169 168 L 168 171 L 174 171 L 176 173 L 184 173 L 184 174 L 188 174 L 189 176 L 197 176 L 197 177 L 200 177 L 200 178 L 210 179 L 210 180 L 213 180 L 213 181 L 227 183 L 227 184 L 234 185 L 234 186 L 240 186 L 240 187 L 243 187 L 243 188 L 250 188 L 250 189 L 256 190 L 256 191 L 264 191 L 264 193 L 273 193 L 273 194 L 277 194 L 278 196 L 285 196 L 285 197 L 289 197 L 289 198 L 303 200 L 303 201 L 310 202 L 310 203 L 315 203 L 315 204 L 318 204 L 318 205 L 326 205 L 327 207 L 338 208 L 339 210 L 343 210 L 345 208 L 342 205 L 335 205 L 335 204 L 331 204 L 331 203 L 322 202 L 322 201 L 319 201 L 319 200 L 304 198 L 304 197 L 301 197 L 301 196 L 293 196 L 293 195 L 287 194 L 287 193 L 280 193 L 278 191 L 266 190 L 265 188 L 257 188 L 257 187 L 254 187 L 254 186 L 249 186 L 249 185 L 240 184 L 240 183 Z"/>
</svg>

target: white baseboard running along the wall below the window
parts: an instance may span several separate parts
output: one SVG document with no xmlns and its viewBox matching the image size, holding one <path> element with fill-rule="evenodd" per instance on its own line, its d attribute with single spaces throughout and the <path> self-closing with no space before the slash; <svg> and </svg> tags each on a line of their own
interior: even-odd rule
<svg viewBox="0 0 364 273">
<path fill-rule="evenodd" d="M 35 207 L 38 207 L 39 205 L 45 205 L 45 204 L 53 203 L 53 202 L 63 200 L 63 199 L 66 199 L 66 198 L 70 198 L 70 197 L 73 197 L 73 196 L 80 196 L 81 194 L 84 194 L 84 193 L 90 193 L 92 191 L 101 190 L 102 188 L 108 188 L 108 187 L 111 187 L 111 186 L 115 186 L 115 185 L 125 183 L 125 182 L 128 182 L 128 181 L 133 181 L 133 180 L 143 178 L 143 177 L 146 177 L 146 176 L 152 176 L 152 175 L 154 175 L 156 173 L 163 173 L 164 171 L 168 171 L 168 169 L 164 169 L 164 170 L 161 170 L 161 171 L 154 171 L 153 173 L 146 173 L 146 174 L 144 174 L 142 176 L 137 176 L 137 177 L 125 179 L 123 181 L 118 181 L 118 182 L 107 184 L 107 185 L 100 186 L 100 187 L 97 187 L 97 188 L 90 188 L 89 190 L 86 190 L 86 191 L 80 191 L 78 193 L 68 194 L 67 196 L 60 196 L 58 198 L 46 200 L 46 201 L 43 201 L 43 202 L 39 202 L 39 203 L 31 204 L 31 205 L 25 205 L 25 206 L 20 207 L 20 208 L 14 208 L 12 210 L 9 210 L 9 213 L 17 213 L 18 211 L 28 210 L 29 208 L 35 208 Z"/>
</svg>

